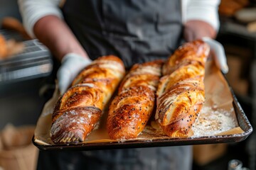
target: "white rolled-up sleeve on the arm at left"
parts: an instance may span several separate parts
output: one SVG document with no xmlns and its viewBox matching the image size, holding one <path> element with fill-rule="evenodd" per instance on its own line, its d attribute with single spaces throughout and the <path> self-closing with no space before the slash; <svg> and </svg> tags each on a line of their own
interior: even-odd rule
<svg viewBox="0 0 256 170">
<path fill-rule="evenodd" d="M 43 16 L 54 15 L 63 18 L 59 8 L 60 0 L 18 0 L 23 26 L 35 38 L 33 26 Z"/>
</svg>

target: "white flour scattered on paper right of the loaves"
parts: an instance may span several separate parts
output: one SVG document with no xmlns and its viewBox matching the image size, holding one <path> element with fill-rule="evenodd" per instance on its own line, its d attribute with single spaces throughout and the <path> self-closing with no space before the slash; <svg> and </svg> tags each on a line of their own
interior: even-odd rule
<svg viewBox="0 0 256 170">
<path fill-rule="evenodd" d="M 231 130 L 237 126 L 233 118 L 233 108 L 230 111 L 203 107 L 198 120 L 193 125 L 193 137 L 213 136 L 220 132 Z"/>
</svg>

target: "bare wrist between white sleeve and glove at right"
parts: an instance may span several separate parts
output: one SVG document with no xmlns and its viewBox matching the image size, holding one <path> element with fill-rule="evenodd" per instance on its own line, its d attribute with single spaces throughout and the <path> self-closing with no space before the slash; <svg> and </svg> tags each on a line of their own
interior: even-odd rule
<svg viewBox="0 0 256 170">
<path fill-rule="evenodd" d="M 184 25 L 183 36 L 186 42 L 198 40 L 203 37 L 215 38 L 216 31 L 209 23 L 199 20 L 187 21 Z"/>
</svg>

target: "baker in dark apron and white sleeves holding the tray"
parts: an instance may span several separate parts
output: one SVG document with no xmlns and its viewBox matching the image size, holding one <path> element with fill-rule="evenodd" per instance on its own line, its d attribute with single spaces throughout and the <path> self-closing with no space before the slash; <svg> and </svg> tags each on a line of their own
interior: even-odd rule
<svg viewBox="0 0 256 170">
<path fill-rule="evenodd" d="M 219 0 L 18 0 L 23 24 L 60 60 L 61 94 L 103 55 L 127 69 L 166 59 L 183 40 L 215 38 Z M 60 5 L 61 4 L 61 5 Z M 191 146 L 40 152 L 38 169 L 191 169 Z"/>
</svg>

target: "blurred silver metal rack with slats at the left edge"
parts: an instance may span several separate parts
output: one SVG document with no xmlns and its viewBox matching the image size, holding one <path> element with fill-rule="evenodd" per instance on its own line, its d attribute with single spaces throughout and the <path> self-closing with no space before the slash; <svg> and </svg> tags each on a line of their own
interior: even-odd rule
<svg viewBox="0 0 256 170">
<path fill-rule="evenodd" d="M 53 69 L 50 51 L 37 39 L 23 41 L 18 33 L 0 30 L 6 40 L 22 41 L 25 50 L 5 60 L 0 60 L 0 84 L 48 76 Z"/>
</svg>

